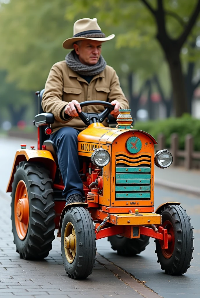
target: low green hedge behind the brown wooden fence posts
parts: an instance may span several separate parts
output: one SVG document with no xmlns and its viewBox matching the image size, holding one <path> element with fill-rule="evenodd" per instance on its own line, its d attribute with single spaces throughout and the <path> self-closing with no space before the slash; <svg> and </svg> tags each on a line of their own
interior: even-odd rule
<svg viewBox="0 0 200 298">
<path fill-rule="evenodd" d="M 134 129 L 146 131 L 155 139 L 160 133 L 164 134 L 167 148 L 170 147 L 171 134 L 178 134 L 179 149 L 185 147 L 185 135 L 192 134 L 194 137 L 194 150 L 200 151 L 200 120 L 192 118 L 189 114 L 184 114 L 179 118 L 171 117 L 165 120 L 136 122 Z"/>
</svg>

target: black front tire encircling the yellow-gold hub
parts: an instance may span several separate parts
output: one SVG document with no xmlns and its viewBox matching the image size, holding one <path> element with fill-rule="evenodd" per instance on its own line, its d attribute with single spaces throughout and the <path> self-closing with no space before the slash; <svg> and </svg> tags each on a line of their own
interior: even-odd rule
<svg viewBox="0 0 200 298">
<path fill-rule="evenodd" d="M 70 223 L 76 236 L 75 256 L 68 262 L 65 250 L 65 227 Z M 72 279 L 84 279 L 93 270 L 96 260 L 96 235 L 93 220 L 83 207 L 69 208 L 65 213 L 61 228 L 61 251 L 65 271 Z M 73 259 L 73 257 L 72 257 Z"/>
</svg>

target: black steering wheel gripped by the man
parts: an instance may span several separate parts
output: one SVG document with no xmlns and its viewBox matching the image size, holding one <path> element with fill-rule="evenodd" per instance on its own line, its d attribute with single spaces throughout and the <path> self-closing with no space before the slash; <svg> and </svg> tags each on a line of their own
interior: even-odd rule
<svg viewBox="0 0 200 298">
<path fill-rule="evenodd" d="M 90 125 L 90 124 L 96 123 L 96 122 L 103 122 L 106 119 L 106 117 L 108 116 L 108 114 L 110 114 L 110 112 L 113 111 L 115 108 L 115 106 L 111 105 L 111 103 L 108 103 L 106 101 L 101 101 L 101 100 L 90 100 L 90 101 L 84 101 L 84 102 L 80 103 L 81 108 L 85 107 L 87 105 L 103 105 L 104 107 L 106 107 L 106 109 L 99 114 L 98 113 L 85 113 L 83 111 L 81 111 L 79 113 L 78 109 L 75 106 L 79 117 L 86 125 Z"/>
</svg>

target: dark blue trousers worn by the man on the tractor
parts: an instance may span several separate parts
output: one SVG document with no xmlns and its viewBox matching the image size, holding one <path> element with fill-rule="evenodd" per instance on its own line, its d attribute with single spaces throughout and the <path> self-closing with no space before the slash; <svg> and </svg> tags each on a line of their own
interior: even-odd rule
<svg viewBox="0 0 200 298">
<path fill-rule="evenodd" d="M 74 128 L 62 127 L 49 137 L 57 148 L 58 164 L 65 185 L 62 195 L 66 200 L 76 193 L 84 196 L 79 176 L 78 134 L 79 131 Z"/>
</svg>

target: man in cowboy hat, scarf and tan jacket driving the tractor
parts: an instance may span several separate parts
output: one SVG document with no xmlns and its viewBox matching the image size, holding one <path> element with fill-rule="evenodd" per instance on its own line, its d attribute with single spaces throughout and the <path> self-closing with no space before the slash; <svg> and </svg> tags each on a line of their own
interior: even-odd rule
<svg viewBox="0 0 200 298">
<path fill-rule="evenodd" d="M 53 113 L 55 122 L 50 136 L 57 148 L 57 158 L 65 185 L 63 197 L 66 204 L 82 202 L 83 184 L 79 176 L 77 136 L 86 125 L 78 117 L 75 106 L 81 112 L 80 102 L 89 100 L 108 101 L 115 106 L 110 113 L 114 117 L 119 108 L 129 108 L 121 90 L 115 70 L 106 65 L 101 56 L 102 42 L 115 35 L 105 37 L 97 19 L 83 18 L 74 23 L 74 36 L 63 42 L 65 49 L 74 49 L 64 61 L 55 63 L 45 84 L 42 107 Z M 100 113 L 102 106 L 87 106 L 83 111 Z M 103 123 L 105 126 L 107 122 Z"/>
</svg>

